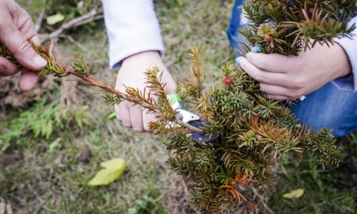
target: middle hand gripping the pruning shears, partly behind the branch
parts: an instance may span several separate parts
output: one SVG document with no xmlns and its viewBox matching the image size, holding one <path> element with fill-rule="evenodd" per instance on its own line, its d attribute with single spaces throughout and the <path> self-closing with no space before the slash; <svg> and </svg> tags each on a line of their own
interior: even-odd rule
<svg viewBox="0 0 357 214">
<path fill-rule="evenodd" d="M 145 51 L 125 58 L 116 78 L 116 90 L 125 92 L 125 86 L 144 90 L 147 86 L 144 72 L 148 68 L 158 66 L 164 70 L 161 81 L 167 83 L 166 93 L 176 93 L 176 82 L 161 61 L 157 51 Z M 125 85 L 125 86 L 124 86 Z M 149 91 L 149 90 L 146 90 Z M 156 98 L 157 101 L 157 98 Z M 148 123 L 156 121 L 154 114 L 147 114 L 143 107 L 133 106 L 129 101 L 123 101 L 115 106 L 116 118 L 125 127 L 132 127 L 136 132 L 150 131 Z"/>
</svg>

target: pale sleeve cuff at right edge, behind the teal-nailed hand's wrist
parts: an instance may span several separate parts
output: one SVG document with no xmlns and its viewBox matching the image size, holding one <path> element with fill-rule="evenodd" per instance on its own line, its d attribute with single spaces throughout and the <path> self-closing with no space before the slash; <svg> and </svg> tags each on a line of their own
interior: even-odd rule
<svg viewBox="0 0 357 214">
<path fill-rule="evenodd" d="M 350 21 L 348 26 L 351 26 L 352 24 L 357 25 L 357 16 Z M 347 78 L 336 78 L 332 83 L 339 90 L 348 92 L 357 91 L 357 29 L 355 29 L 352 34 L 354 35 L 352 36 L 352 39 L 347 37 L 333 39 L 333 41 L 338 43 L 345 50 L 352 66 L 352 75 Z"/>
</svg>

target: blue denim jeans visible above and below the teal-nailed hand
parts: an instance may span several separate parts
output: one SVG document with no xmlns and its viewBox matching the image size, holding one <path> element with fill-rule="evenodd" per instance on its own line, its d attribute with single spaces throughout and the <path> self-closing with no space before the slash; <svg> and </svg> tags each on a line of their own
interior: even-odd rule
<svg viewBox="0 0 357 214">
<path fill-rule="evenodd" d="M 238 41 L 243 36 L 238 35 L 241 29 L 241 10 L 237 9 L 243 0 L 236 0 L 232 16 L 226 31 L 233 49 L 239 49 Z M 241 54 L 236 51 L 237 56 Z M 357 129 L 357 93 L 339 91 L 332 83 L 326 83 L 312 93 L 306 95 L 306 100 L 298 103 L 292 109 L 296 118 L 311 126 L 313 130 L 323 127 L 333 128 L 336 137 L 345 136 Z"/>
</svg>

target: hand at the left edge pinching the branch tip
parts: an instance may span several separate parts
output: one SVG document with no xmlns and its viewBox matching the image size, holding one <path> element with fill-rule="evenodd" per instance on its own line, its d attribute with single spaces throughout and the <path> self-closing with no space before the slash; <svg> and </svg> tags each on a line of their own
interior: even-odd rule
<svg viewBox="0 0 357 214">
<path fill-rule="evenodd" d="M 39 71 L 47 64 L 34 51 L 29 39 L 36 45 L 41 44 L 29 14 L 14 0 L 0 0 L 0 42 L 14 54 L 16 61 L 22 66 L 19 81 L 21 91 L 34 88 L 39 76 L 32 71 Z M 18 66 L 0 56 L 0 76 L 11 76 L 19 70 Z"/>
</svg>

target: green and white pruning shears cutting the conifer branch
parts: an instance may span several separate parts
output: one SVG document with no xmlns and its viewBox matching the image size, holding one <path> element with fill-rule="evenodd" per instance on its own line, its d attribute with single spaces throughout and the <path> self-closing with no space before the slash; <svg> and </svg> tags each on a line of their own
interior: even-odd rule
<svg viewBox="0 0 357 214">
<path fill-rule="evenodd" d="M 175 115 L 178 120 L 182 121 L 183 123 L 188 123 L 196 128 L 204 128 L 210 125 L 207 119 L 201 121 L 201 118 L 198 114 L 192 113 L 191 111 L 187 111 L 183 106 L 181 97 L 178 94 L 168 94 L 167 98 L 174 111 L 178 111 L 178 113 L 176 113 Z M 116 113 L 112 113 L 109 116 L 109 119 L 111 120 L 115 118 L 116 118 Z M 197 142 L 213 141 L 216 140 L 216 138 L 218 138 L 219 136 L 220 136 L 219 134 L 214 134 L 214 135 L 206 135 L 200 133 L 191 134 L 191 138 L 193 139 L 193 141 L 197 141 Z"/>
</svg>

